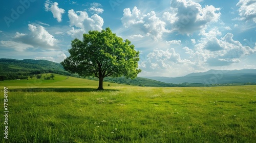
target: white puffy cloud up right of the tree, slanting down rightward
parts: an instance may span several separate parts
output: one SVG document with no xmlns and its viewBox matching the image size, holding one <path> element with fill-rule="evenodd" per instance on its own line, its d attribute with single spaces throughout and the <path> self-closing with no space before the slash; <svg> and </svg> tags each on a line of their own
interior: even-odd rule
<svg viewBox="0 0 256 143">
<path fill-rule="evenodd" d="M 166 23 L 156 16 L 155 11 L 143 14 L 137 7 L 132 11 L 126 8 L 123 10 L 121 21 L 125 28 L 137 29 L 154 40 L 161 39 L 164 33 L 170 33 L 170 30 L 165 28 Z"/>
</svg>

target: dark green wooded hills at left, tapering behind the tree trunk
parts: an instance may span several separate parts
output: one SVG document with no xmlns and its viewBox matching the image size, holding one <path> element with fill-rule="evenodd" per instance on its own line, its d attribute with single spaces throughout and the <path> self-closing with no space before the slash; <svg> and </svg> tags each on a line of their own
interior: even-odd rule
<svg viewBox="0 0 256 143">
<path fill-rule="evenodd" d="M 63 66 L 59 63 L 51 62 L 48 60 L 16 60 L 16 59 L 0 59 L 0 81 L 2 80 L 14 80 L 14 79 L 30 79 L 36 75 L 45 73 L 55 73 L 65 76 L 80 77 L 78 75 L 70 74 L 65 71 Z M 40 77 L 40 76 L 39 76 Z M 87 77 L 89 80 L 98 80 L 98 78 Z M 17 82 L 17 81 L 15 81 Z M 106 77 L 104 82 L 135 85 L 135 86 L 154 86 L 154 87 L 171 87 L 174 84 L 168 84 L 156 80 L 139 78 L 126 79 L 124 77 L 111 78 Z M 74 83 L 72 83 L 74 84 Z M 112 85 L 112 84 L 110 84 Z"/>
</svg>

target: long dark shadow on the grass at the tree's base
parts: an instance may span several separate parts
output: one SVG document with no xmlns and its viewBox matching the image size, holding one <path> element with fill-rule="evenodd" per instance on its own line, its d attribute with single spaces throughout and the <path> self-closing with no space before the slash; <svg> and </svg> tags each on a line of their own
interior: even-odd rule
<svg viewBox="0 0 256 143">
<path fill-rule="evenodd" d="M 118 89 L 104 89 L 97 90 L 96 88 L 17 88 L 10 89 L 9 91 L 17 92 L 110 92 L 110 91 L 119 91 Z"/>
</svg>

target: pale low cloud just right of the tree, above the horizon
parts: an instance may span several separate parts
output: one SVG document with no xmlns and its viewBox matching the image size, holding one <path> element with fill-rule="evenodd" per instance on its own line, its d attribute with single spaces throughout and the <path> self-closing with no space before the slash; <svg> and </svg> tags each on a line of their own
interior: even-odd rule
<svg viewBox="0 0 256 143">
<path fill-rule="evenodd" d="M 139 68 L 142 69 L 142 75 L 153 75 L 154 76 L 168 76 L 173 77 L 174 73 L 176 76 L 182 76 L 189 73 L 195 65 L 187 59 L 182 59 L 180 54 L 176 53 L 175 50 L 167 49 L 160 50 L 155 49 L 153 52 L 147 54 L 146 59 L 139 64 Z"/>
</svg>

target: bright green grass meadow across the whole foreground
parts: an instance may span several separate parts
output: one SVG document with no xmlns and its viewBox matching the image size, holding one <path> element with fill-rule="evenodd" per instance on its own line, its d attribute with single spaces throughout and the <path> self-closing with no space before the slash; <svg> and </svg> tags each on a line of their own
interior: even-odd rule
<svg viewBox="0 0 256 143">
<path fill-rule="evenodd" d="M 135 87 L 66 76 L 8 87 L 2 142 L 255 142 L 256 86 Z M 32 86 L 33 85 L 33 86 Z M 4 114 L 4 108 L 0 108 Z M 2 115 L 1 121 L 4 120 Z"/>
</svg>

